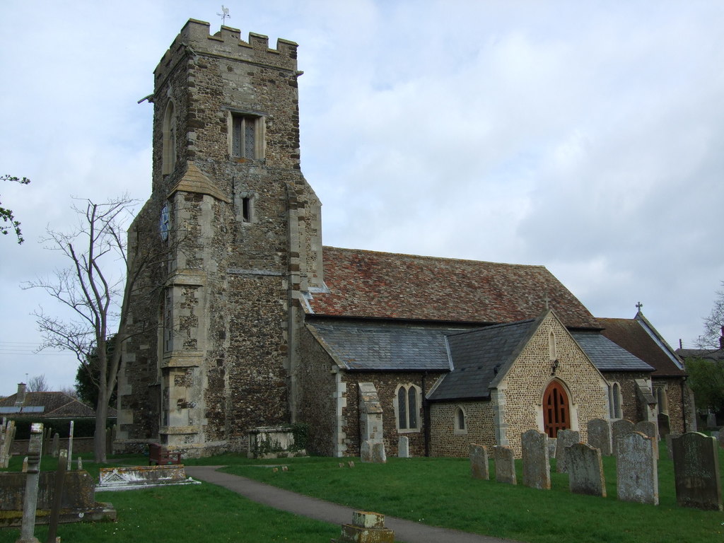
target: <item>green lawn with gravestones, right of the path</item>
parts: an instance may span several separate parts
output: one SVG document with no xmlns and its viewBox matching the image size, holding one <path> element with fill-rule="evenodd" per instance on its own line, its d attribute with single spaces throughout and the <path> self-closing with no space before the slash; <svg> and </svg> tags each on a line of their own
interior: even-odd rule
<svg viewBox="0 0 724 543">
<path fill-rule="evenodd" d="M 661 445 L 658 506 L 616 499 L 610 457 L 604 458 L 605 498 L 571 494 L 566 474 L 551 474 L 550 491 L 523 487 L 520 461 L 515 487 L 471 479 L 468 460 L 455 458 L 389 458 L 386 465 L 356 461 L 355 468 L 340 468 L 333 458 L 290 459 L 287 472 L 248 465 L 226 469 L 350 508 L 521 542 L 722 543 L 724 513 L 676 505 L 673 463 Z"/>
</svg>

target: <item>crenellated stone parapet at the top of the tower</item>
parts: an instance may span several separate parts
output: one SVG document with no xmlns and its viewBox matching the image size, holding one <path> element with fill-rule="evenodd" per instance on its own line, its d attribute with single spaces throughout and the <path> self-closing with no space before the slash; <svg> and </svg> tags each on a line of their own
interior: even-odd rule
<svg viewBox="0 0 724 543">
<path fill-rule="evenodd" d="M 248 41 L 243 41 L 241 31 L 237 28 L 222 26 L 219 32 L 212 35 L 210 27 L 205 21 L 189 19 L 186 22 L 156 67 L 156 82 L 168 75 L 180 54 L 186 51 L 191 54 L 241 59 L 252 64 L 292 72 L 297 70 L 298 44 L 293 41 L 279 38 L 277 49 L 269 49 L 269 37 L 266 35 L 250 32 Z"/>
</svg>

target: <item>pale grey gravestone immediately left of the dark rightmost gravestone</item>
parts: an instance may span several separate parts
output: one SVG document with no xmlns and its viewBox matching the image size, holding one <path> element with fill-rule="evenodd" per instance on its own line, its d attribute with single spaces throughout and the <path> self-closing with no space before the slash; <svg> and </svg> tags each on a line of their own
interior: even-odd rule
<svg viewBox="0 0 724 543">
<path fill-rule="evenodd" d="M 623 502 L 659 505 L 659 478 L 653 437 L 626 434 L 618 442 L 616 493 Z"/>
</svg>

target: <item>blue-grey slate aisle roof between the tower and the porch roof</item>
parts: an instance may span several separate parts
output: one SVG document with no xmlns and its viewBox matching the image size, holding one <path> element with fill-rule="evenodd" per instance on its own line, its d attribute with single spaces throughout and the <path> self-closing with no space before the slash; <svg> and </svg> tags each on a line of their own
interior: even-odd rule
<svg viewBox="0 0 724 543">
<path fill-rule="evenodd" d="M 340 366 L 357 371 L 449 371 L 445 334 L 459 331 L 354 321 L 307 327 Z"/>
</svg>

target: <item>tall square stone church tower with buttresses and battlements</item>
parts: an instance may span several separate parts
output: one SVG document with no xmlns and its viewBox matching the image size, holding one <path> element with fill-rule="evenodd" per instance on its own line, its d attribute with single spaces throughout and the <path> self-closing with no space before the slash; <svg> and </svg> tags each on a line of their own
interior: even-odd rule
<svg viewBox="0 0 724 543">
<path fill-rule="evenodd" d="M 248 429 L 295 420 L 300 306 L 324 285 L 321 204 L 300 172 L 297 44 L 189 20 L 154 75 L 118 438 L 244 450 Z"/>
</svg>

